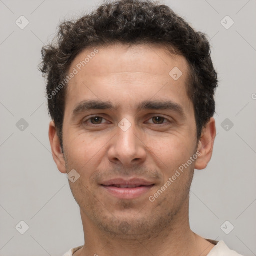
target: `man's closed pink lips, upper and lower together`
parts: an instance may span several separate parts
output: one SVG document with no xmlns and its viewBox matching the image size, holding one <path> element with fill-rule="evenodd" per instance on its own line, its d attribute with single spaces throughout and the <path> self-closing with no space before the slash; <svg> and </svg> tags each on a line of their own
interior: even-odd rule
<svg viewBox="0 0 256 256">
<path fill-rule="evenodd" d="M 141 178 L 109 179 L 102 182 L 101 186 L 112 196 L 120 199 L 134 199 L 148 192 L 154 183 Z"/>
</svg>

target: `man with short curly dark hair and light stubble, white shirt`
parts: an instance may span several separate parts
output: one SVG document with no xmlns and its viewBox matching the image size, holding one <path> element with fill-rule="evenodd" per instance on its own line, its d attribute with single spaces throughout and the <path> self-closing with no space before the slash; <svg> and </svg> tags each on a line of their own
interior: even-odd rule
<svg viewBox="0 0 256 256">
<path fill-rule="evenodd" d="M 239 255 L 189 227 L 216 135 L 205 35 L 165 5 L 121 0 L 63 22 L 42 57 L 52 155 L 84 231 L 65 256 Z"/>
</svg>

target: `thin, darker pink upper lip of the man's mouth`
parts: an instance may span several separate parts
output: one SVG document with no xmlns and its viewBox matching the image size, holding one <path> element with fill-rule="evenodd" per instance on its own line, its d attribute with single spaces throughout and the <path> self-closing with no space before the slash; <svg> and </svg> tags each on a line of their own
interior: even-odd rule
<svg viewBox="0 0 256 256">
<path fill-rule="evenodd" d="M 142 179 L 142 178 L 130 178 L 130 179 L 123 179 L 123 178 L 113 178 L 106 181 L 103 181 L 101 185 L 104 186 L 111 186 L 111 185 L 120 185 L 120 186 L 150 186 L 154 185 L 153 182 Z"/>
</svg>

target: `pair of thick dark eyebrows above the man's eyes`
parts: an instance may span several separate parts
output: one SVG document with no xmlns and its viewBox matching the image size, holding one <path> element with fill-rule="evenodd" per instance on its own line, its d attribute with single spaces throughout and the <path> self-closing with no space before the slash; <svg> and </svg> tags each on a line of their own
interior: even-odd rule
<svg viewBox="0 0 256 256">
<path fill-rule="evenodd" d="M 72 119 L 82 112 L 93 110 L 93 109 L 105 109 L 116 111 L 118 106 L 112 105 L 110 101 L 100 101 L 100 100 L 84 100 L 81 101 L 72 112 Z M 185 118 L 185 112 L 180 104 L 177 104 L 171 100 L 145 100 L 139 103 L 137 110 L 171 110 L 178 113 L 182 118 Z"/>
</svg>

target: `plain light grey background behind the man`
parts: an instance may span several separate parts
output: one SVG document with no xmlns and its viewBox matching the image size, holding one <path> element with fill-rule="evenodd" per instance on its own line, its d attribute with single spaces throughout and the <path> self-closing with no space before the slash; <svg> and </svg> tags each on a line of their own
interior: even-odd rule
<svg viewBox="0 0 256 256">
<path fill-rule="evenodd" d="M 0 0 L 0 256 L 62 255 L 83 244 L 78 205 L 51 156 L 45 83 L 37 65 L 59 21 L 90 12 L 99 2 Z M 191 187 L 191 228 L 256 255 L 256 1 L 161 2 L 208 34 L 220 80 L 213 156 L 205 170 L 195 171 Z M 29 21 L 24 29 L 15 24 L 21 15 Z M 226 15 L 234 21 L 229 29 L 220 22 Z M 21 118 L 28 123 L 23 130 L 16 126 Z M 29 226 L 23 235 L 15 228 L 21 220 Z"/>
</svg>

